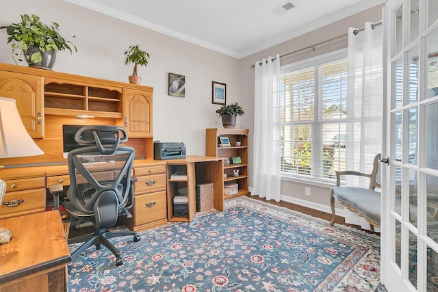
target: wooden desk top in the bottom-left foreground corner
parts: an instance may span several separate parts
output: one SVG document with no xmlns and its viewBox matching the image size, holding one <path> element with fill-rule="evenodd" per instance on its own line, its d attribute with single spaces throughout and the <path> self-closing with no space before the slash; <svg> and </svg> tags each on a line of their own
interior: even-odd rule
<svg viewBox="0 0 438 292">
<path fill-rule="evenodd" d="M 12 232 L 0 245 L 0 292 L 67 291 L 71 258 L 58 211 L 0 220 L 0 228 Z"/>
</svg>

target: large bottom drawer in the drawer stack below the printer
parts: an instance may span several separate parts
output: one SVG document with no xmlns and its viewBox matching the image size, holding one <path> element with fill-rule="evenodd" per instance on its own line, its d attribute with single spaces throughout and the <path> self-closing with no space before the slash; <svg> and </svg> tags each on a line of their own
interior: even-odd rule
<svg viewBox="0 0 438 292">
<path fill-rule="evenodd" d="M 134 224 L 136 226 L 167 219 L 166 191 L 144 194 L 134 198 Z"/>
</svg>

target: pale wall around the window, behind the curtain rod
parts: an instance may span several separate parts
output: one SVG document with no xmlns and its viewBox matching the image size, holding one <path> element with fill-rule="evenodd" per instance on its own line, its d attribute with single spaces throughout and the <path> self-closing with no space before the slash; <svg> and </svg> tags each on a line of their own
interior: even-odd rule
<svg viewBox="0 0 438 292">
<path fill-rule="evenodd" d="M 364 23 L 370 21 L 372 23 L 376 23 L 381 21 L 382 18 L 382 8 L 383 5 L 378 5 L 369 10 L 365 10 L 359 14 L 355 14 L 348 18 L 341 19 L 336 23 L 332 23 L 331 25 L 326 25 L 320 29 L 316 29 L 315 31 L 311 31 L 308 34 L 304 34 L 292 40 L 288 40 L 287 42 L 283 42 L 282 44 L 278 44 L 269 49 L 260 51 L 244 59 L 240 60 L 240 83 L 241 83 L 241 94 L 242 94 L 242 107 L 246 109 L 246 118 L 242 120 L 242 127 L 250 129 L 250 143 L 252 143 L 253 139 L 253 109 L 254 108 L 254 68 L 250 68 L 251 64 L 255 64 L 255 62 L 266 58 L 268 56 L 275 56 L 277 53 L 279 55 L 285 55 L 287 53 L 297 51 L 309 46 L 313 46 L 313 44 L 318 44 L 319 42 L 324 42 L 325 40 L 330 40 L 331 38 L 335 38 L 337 36 L 341 36 L 346 34 L 348 31 L 348 27 L 356 27 L 362 28 Z M 282 57 L 280 59 L 281 66 L 286 64 L 292 64 L 294 62 L 298 62 L 302 59 L 308 59 L 310 57 L 315 57 L 317 55 L 322 55 L 324 53 L 329 53 L 332 51 L 337 51 L 339 49 L 344 49 L 348 47 L 348 38 L 339 38 L 332 42 L 327 42 L 325 44 L 321 44 L 315 46 L 315 51 L 312 49 L 306 49 L 304 51 L 300 51 L 299 53 L 294 53 L 288 55 L 287 57 Z M 249 150 L 250 158 L 252 157 L 252 148 Z M 257 159 L 257 157 L 254 157 Z M 252 161 L 250 160 L 250 173 L 252 173 Z M 252 178 L 249 178 L 249 185 L 253 185 Z M 334 183 L 333 183 L 334 185 Z M 310 187 L 311 196 L 305 196 L 305 187 Z M 283 195 L 282 200 L 287 200 L 289 202 L 297 202 L 299 204 L 308 204 L 313 208 L 318 208 L 318 204 L 320 204 L 320 209 L 322 211 L 329 211 L 329 197 L 330 197 L 330 189 L 329 187 L 321 187 L 314 185 L 307 185 L 305 183 L 294 183 L 292 181 L 281 182 L 281 194 Z M 340 204 L 337 206 L 340 207 Z"/>
</svg>

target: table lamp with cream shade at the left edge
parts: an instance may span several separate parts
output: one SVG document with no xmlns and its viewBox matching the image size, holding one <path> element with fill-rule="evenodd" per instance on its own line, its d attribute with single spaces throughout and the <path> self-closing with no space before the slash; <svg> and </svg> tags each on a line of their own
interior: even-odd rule
<svg viewBox="0 0 438 292">
<path fill-rule="evenodd" d="M 21 120 L 16 101 L 0 96 L 0 158 L 42 155 Z M 0 165 L 0 169 L 3 165 Z M 6 193 L 6 183 L 0 179 L 0 206 Z M 9 242 L 12 233 L 0 226 L 0 244 Z"/>
</svg>

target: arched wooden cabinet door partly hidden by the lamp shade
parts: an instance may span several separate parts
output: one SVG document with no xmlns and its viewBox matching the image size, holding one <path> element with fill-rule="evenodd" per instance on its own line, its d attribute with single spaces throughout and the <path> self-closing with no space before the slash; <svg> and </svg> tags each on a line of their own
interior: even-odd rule
<svg viewBox="0 0 438 292">
<path fill-rule="evenodd" d="M 21 120 L 32 138 L 44 137 L 42 77 L 0 71 L 0 96 L 16 100 Z"/>
</svg>

